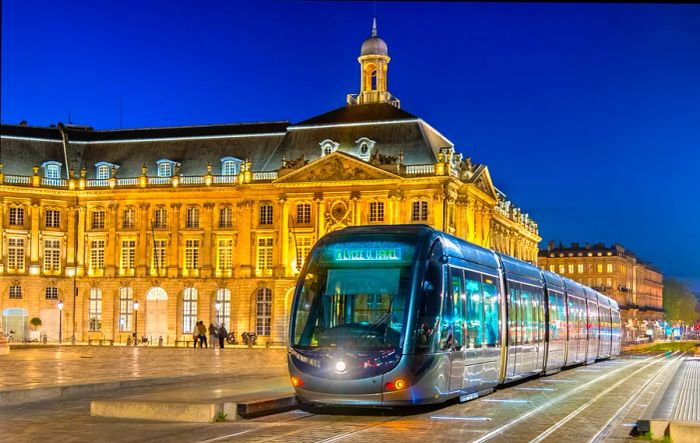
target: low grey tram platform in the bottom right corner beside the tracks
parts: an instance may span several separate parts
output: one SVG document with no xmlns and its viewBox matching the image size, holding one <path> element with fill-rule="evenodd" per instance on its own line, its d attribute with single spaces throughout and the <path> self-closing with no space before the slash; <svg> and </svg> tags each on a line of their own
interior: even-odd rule
<svg viewBox="0 0 700 443">
<path fill-rule="evenodd" d="M 654 439 L 700 442 L 700 358 L 684 358 L 669 372 L 637 421 Z"/>
</svg>

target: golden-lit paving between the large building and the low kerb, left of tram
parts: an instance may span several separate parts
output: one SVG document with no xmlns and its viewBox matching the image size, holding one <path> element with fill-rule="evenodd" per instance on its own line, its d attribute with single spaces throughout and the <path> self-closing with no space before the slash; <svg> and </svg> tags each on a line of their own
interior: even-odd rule
<svg viewBox="0 0 700 443">
<path fill-rule="evenodd" d="M 285 349 L 47 346 L 0 357 L 0 390 L 194 375 L 286 372 Z"/>
</svg>

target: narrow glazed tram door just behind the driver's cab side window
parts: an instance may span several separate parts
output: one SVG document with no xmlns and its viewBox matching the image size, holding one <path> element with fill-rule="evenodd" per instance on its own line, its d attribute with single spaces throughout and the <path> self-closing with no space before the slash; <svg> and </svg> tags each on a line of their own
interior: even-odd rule
<svg viewBox="0 0 700 443">
<path fill-rule="evenodd" d="M 450 352 L 450 392 L 464 387 L 464 331 L 465 331 L 465 300 L 464 276 L 461 269 L 450 269 L 450 296 L 446 306 L 451 314 L 451 338 L 446 346 Z M 444 312 L 444 311 L 443 311 Z"/>
</svg>

